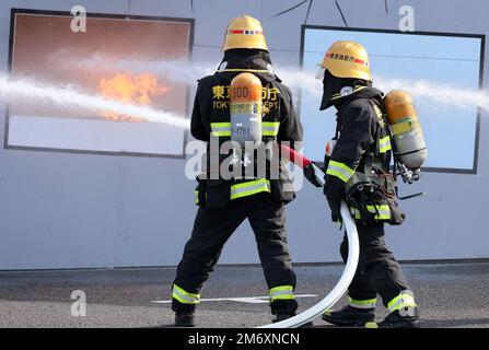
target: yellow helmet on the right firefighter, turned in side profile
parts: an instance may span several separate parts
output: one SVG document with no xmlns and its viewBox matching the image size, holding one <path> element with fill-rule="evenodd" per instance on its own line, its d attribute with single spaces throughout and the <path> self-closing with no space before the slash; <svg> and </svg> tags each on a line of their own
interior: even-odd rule
<svg viewBox="0 0 489 350">
<path fill-rule="evenodd" d="M 326 70 L 337 78 L 357 78 L 372 81 L 369 54 L 363 46 L 354 42 L 333 43 L 324 55 L 316 78 L 323 79 Z"/>
</svg>

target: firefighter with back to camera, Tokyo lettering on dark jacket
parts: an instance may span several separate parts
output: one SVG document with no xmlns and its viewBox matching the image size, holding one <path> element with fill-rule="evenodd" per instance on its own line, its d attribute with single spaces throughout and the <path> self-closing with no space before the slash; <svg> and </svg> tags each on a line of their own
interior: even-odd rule
<svg viewBox="0 0 489 350">
<path fill-rule="evenodd" d="M 293 143 L 302 140 L 302 126 L 290 90 L 273 73 L 258 20 L 248 15 L 232 20 L 222 50 L 224 57 L 217 72 L 199 80 L 190 121 L 191 135 L 208 144 L 208 167 L 198 177 L 199 208 L 172 287 L 177 326 L 194 325 L 200 289 L 214 269 L 224 243 L 246 219 L 255 233 L 273 322 L 293 316 L 298 308 L 286 232 L 284 205 L 294 198 L 287 170 L 281 164 L 280 176 L 272 177 L 267 162 L 265 176 L 254 173 L 246 178 L 226 179 L 216 170 L 230 155 L 234 160 L 234 153 L 212 152 L 212 144 L 220 147 L 238 137 L 255 137 L 254 142 Z M 252 103 L 244 103 L 245 97 Z M 230 108 L 233 101 L 237 101 L 236 114 Z M 260 128 L 240 126 L 245 132 L 235 132 L 238 124 L 233 124 L 233 116 L 240 117 L 240 113 L 254 114 L 256 118 L 244 118 L 244 121 L 258 122 Z M 236 155 L 233 167 L 247 166 L 242 155 Z M 213 156 L 218 162 L 213 162 Z M 216 163 L 218 166 L 212 167 Z"/>
</svg>

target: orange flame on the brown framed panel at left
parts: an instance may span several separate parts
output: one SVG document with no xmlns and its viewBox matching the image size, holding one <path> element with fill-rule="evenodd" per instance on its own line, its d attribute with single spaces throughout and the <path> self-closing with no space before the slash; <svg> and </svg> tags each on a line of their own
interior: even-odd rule
<svg viewBox="0 0 489 350">
<path fill-rule="evenodd" d="M 166 93 L 170 88 L 160 86 L 158 77 L 150 73 L 132 75 L 131 73 L 118 73 L 112 78 L 102 77 L 98 88 L 107 100 L 120 101 L 127 104 L 147 106 L 151 98 Z M 144 121 L 138 116 L 128 116 L 112 112 L 103 112 L 102 115 L 115 121 Z"/>
</svg>

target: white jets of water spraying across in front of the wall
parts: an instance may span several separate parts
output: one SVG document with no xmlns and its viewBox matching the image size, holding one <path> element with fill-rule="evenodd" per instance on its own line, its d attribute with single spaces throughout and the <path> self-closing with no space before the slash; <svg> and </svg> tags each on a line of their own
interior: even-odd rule
<svg viewBox="0 0 489 350">
<path fill-rule="evenodd" d="M 91 58 L 78 62 L 82 69 L 93 67 L 107 70 L 151 72 L 165 80 L 195 86 L 197 79 L 216 71 L 210 63 L 191 63 L 185 60 L 177 61 L 104 61 Z M 302 71 L 298 68 L 279 68 L 277 74 L 293 91 L 302 94 L 321 96 L 322 83 L 315 79 L 315 72 Z M 489 92 L 484 90 L 461 90 L 455 86 L 436 84 L 427 80 L 405 81 L 375 77 L 375 85 L 381 90 L 399 89 L 408 91 L 415 98 L 428 100 L 431 103 L 451 106 L 454 108 L 480 107 L 489 112 Z M 106 100 L 100 95 L 91 95 L 72 85 L 56 85 L 28 78 L 12 79 L 0 75 L 0 97 L 7 101 L 42 100 L 56 105 L 89 108 L 94 112 L 106 110 L 129 116 L 142 117 L 148 121 L 163 122 L 170 126 L 188 128 L 189 121 L 184 116 L 165 110 L 156 110 L 150 106 L 138 106 L 117 101 Z"/>
</svg>

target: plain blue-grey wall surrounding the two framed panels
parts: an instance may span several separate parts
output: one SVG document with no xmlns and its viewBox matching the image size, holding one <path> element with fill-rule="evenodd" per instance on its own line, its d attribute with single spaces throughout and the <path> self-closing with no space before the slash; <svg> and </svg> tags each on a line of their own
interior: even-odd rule
<svg viewBox="0 0 489 350">
<path fill-rule="evenodd" d="M 216 63 L 229 20 L 251 14 L 263 22 L 280 74 L 281 65 L 299 66 L 307 4 L 272 15 L 299 2 L 194 0 L 191 9 L 190 0 L 2 0 L 0 71 L 7 71 L 11 8 L 70 11 L 81 4 L 89 12 L 195 18 L 194 60 Z M 388 13 L 384 0 L 339 3 L 352 27 L 397 30 L 398 9 L 409 4 L 416 11 L 417 31 L 487 35 L 489 30 L 489 2 L 482 0 L 388 0 Z M 307 24 L 344 26 L 333 0 L 314 1 Z M 486 51 L 485 86 L 488 57 Z M 0 96 L 2 130 L 4 114 Z M 387 242 L 398 259 L 489 258 L 488 127 L 489 115 L 482 113 L 477 175 L 427 173 L 409 188 L 429 196 L 404 202 L 408 220 L 401 228 L 387 228 Z M 0 138 L 3 143 L 3 132 Z M 184 176 L 184 165 L 185 160 L 0 149 L 0 269 L 176 265 L 196 213 L 194 183 Z M 341 234 L 326 208 L 312 186 L 304 186 L 288 206 L 294 261 L 339 260 Z M 255 246 L 245 223 L 220 262 L 258 262 Z"/>
</svg>

